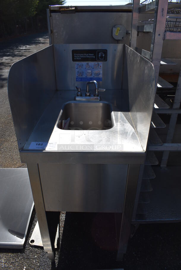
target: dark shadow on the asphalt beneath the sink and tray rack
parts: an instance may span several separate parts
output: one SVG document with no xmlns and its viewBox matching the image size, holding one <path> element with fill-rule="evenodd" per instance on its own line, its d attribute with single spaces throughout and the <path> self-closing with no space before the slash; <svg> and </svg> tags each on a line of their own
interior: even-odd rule
<svg viewBox="0 0 181 270">
<path fill-rule="evenodd" d="M 181 269 L 181 223 L 141 224 L 116 261 L 114 214 L 66 213 L 58 270 Z"/>
</svg>

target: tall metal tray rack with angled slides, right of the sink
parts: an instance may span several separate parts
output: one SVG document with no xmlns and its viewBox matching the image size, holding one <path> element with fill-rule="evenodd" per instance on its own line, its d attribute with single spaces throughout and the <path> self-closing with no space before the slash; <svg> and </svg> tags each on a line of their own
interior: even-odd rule
<svg viewBox="0 0 181 270">
<path fill-rule="evenodd" d="M 140 20 L 140 18 L 143 18 L 143 14 L 150 17 L 147 17 L 147 19 L 145 17 L 146 20 Z M 178 222 L 181 220 L 181 213 L 177 207 L 177 205 L 180 205 L 181 190 L 177 182 L 177 172 L 181 168 L 169 166 L 180 166 L 176 160 L 180 158 L 178 151 L 181 149 L 181 143 L 180 138 L 175 139 L 174 135 L 177 133 L 176 130 L 179 126 L 177 116 L 181 112 L 181 3 L 180 1 L 172 2 L 172 0 L 146 0 L 140 4 L 140 1 L 134 0 L 132 17 L 131 48 L 136 49 L 137 52 L 153 63 L 155 82 L 158 93 L 162 93 L 161 97 L 163 97 L 163 92 L 167 91 L 165 96 L 168 95 L 169 99 L 169 88 L 174 86 L 169 83 L 169 77 L 172 76 L 172 73 L 178 73 L 177 88 L 172 89 L 174 92 L 172 93 L 172 103 L 166 104 L 156 95 L 147 148 L 149 151 L 147 151 L 144 170 L 140 169 L 133 223 Z M 142 38 L 146 37 L 148 32 L 150 32 L 152 38 L 150 39 L 150 47 L 147 46 L 145 50 L 145 43 L 140 43 L 139 38 L 141 36 Z M 170 56 L 172 61 L 168 59 Z M 163 57 L 166 57 L 166 59 Z M 166 71 L 165 67 L 167 66 L 169 69 Z M 163 72 L 169 73 L 168 76 L 165 76 L 165 80 L 158 76 L 159 74 L 163 76 Z M 164 90 L 164 88 L 166 89 Z M 171 108 L 169 108 L 169 105 Z M 165 131 L 159 132 L 160 128 L 166 127 L 160 118 L 162 113 L 171 116 Z M 161 133 L 164 134 L 165 138 Z M 161 154 L 162 158 L 158 158 L 159 162 L 157 160 L 159 155 L 155 152 L 156 157 L 153 151 L 159 151 L 157 153 Z M 175 160 L 173 154 L 176 156 Z M 159 166 L 155 168 L 157 164 L 160 164 L 161 168 Z M 166 172 L 164 172 L 164 169 L 166 169 Z M 158 179 L 159 181 L 157 181 Z"/>
</svg>

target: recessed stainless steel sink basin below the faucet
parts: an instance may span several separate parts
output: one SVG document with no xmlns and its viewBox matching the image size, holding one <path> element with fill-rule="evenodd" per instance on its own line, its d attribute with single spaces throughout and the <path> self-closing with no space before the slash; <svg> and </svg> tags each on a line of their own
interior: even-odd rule
<svg viewBox="0 0 181 270">
<path fill-rule="evenodd" d="M 112 107 L 103 101 L 71 101 L 64 104 L 58 118 L 58 128 L 62 121 L 70 117 L 70 130 L 107 130 L 112 125 Z"/>
</svg>

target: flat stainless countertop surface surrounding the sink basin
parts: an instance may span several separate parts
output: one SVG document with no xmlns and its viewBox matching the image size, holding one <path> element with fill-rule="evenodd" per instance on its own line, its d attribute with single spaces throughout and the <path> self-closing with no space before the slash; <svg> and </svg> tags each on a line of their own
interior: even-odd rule
<svg viewBox="0 0 181 270">
<path fill-rule="evenodd" d="M 112 105 L 112 117 L 114 119 L 114 126 L 108 130 L 61 130 L 55 126 L 61 108 L 64 103 L 74 101 L 74 96 L 77 91 L 59 90 L 51 99 L 49 105 L 45 109 L 42 117 L 31 133 L 23 150 L 28 150 L 31 142 L 56 142 L 58 145 L 78 144 L 78 145 L 94 145 L 94 148 L 85 147 L 85 151 L 126 151 L 137 152 L 143 151 L 139 138 L 136 134 L 131 115 L 128 111 L 120 112 L 118 107 L 114 106 L 116 99 L 111 95 L 110 100 L 109 91 L 103 95 L 100 93 L 102 101 L 107 101 Z M 82 91 L 83 92 L 83 91 Z M 99 102 L 99 101 L 97 101 Z M 81 119 L 80 119 L 81 121 Z M 58 147 L 60 148 L 60 146 Z M 81 147 L 80 147 L 81 148 Z M 65 150 L 64 150 L 65 149 Z M 60 151 L 67 151 L 61 147 Z M 73 149 L 73 148 L 72 148 Z M 81 148 L 81 151 L 83 149 Z M 37 151 L 37 150 L 35 150 Z M 47 151 L 47 150 L 46 150 Z M 48 151 L 58 151 L 55 149 L 48 149 Z M 77 148 L 77 151 L 79 149 Z M 84 150 L 83 150 L 84 151 Z"/>
</svg>

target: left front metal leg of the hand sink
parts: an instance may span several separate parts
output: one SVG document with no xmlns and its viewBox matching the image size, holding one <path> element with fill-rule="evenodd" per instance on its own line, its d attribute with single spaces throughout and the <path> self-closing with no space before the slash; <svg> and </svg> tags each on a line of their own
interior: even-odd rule
<svg viewBox="0 0 181 270">
<path fill-rule="evenodd" d="M 45 205 L 42 194 L 42 187 L 39 177 L 39 167 L 38 164 L 27 164 L 28 174 L 31 184 L 31 190 L 34 199 L 34 205 L 36 209 L 36 214 L 38 218 L 38 224 L 40 229 L 40 234 L 42 237 L 42 243 L 44 250 L 48 253 L 50 260 L 55 260 L 54 247 L 51 244 L 50 234 L 48 229 L 47 217 L 45 212 Z"/>
</svg>

